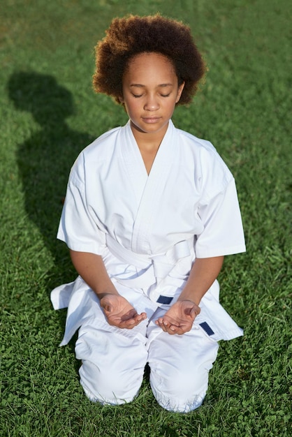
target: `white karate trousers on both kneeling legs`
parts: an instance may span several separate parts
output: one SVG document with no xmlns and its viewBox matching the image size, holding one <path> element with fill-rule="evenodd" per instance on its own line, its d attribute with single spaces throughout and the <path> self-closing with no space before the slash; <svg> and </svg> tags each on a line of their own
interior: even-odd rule
<svg viewBox="0 0 292 437">
<path fill-rule="evenodd" d="M 132 401 L 148 362 L 150 385 L 163 408 L 188 413 L 201 405 L 218 343 L 196 323 L 183 335 L 163 332 L 154 321 L 165 312 L 156 309 L 138 329 L 101 327 L 100 322 L 80 327 L 75 353 L 89 399 L 112 405 Z"/>
</svg>

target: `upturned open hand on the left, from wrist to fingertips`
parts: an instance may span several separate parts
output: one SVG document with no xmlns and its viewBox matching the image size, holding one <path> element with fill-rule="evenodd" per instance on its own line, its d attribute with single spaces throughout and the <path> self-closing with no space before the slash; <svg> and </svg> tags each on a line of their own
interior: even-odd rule
<svg viewBox="0 0 292 437">
<path fill-rule="evenodd" d="M 138 314 L 136 309 L 120 295 L 105 295 L 100 303 L 108 324 L 112 326 L 132 329 L 147 318 L 146 313 Z"/>
</svg>

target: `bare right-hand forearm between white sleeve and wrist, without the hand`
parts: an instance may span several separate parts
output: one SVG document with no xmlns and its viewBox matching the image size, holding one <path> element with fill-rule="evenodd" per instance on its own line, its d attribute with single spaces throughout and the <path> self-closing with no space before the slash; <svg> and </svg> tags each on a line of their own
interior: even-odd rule
<svg viewBox="0 0 292 437">
<path fill-rule="evenodd" d="M 200 299 L 217 279 L 223 261 L 224 256 L 196 258 L 189 279 L 178 300 L 191 300 L 196 305 L 200 304 Z"/>
</svg>

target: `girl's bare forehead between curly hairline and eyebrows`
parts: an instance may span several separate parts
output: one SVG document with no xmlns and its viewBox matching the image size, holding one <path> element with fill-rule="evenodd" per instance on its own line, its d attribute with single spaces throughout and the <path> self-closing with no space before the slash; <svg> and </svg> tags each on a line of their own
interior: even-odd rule
<svg viewBox="0 0 292 437">
<path fill-rule="evenodd" d="M 131 77 L 176 77 L 173 62 L 165 55 L 155 52 L 143 52 L 130 59 L 125 76 Z"/>
</svg>

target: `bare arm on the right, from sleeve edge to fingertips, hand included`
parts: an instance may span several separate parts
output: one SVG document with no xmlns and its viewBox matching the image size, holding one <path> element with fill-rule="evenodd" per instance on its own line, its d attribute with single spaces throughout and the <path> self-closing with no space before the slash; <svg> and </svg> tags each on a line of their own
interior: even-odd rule
<svg viewBox="0 0 292 437">
<path fill-rule="evenodd" d="M 217 279 L 223 261 L 224 256 L 196 258 L 180 297 L 163 317 L 156 320 L 156 325 L 168 334 L 184 334 L 190 331 L 196 316 L 200 313 L 200 299 Z"/>
</svg>

